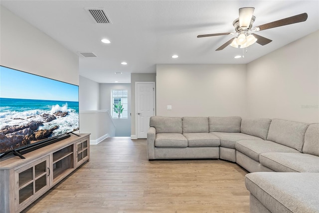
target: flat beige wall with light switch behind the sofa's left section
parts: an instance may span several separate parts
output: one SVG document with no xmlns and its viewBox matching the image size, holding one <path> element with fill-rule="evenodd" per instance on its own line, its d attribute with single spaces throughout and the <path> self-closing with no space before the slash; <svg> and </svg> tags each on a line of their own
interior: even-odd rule
<svg viewBox="0 0 319 213">
<path fill-rule="evenodd" d="M 157 115 L 247 115 L 245 64 L 158 64 L 156 84 Z"/>
</svg>

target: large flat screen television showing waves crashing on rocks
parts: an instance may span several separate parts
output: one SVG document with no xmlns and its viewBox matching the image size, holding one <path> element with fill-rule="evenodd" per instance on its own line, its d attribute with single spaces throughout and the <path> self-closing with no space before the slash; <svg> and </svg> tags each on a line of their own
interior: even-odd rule
<svg viewBox="0 0 319 213">
<path fill-rule="evenodd" d="M 76 130 L 79 86 L 0 66 L 0 158 L 25 154 Z"/>
</svg>

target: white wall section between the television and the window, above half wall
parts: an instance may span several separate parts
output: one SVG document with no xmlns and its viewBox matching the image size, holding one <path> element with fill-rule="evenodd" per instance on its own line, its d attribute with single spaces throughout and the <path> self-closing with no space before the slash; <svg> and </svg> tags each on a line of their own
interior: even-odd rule
<svg viewBox="0 0 319 213">
<path fill-rule="evenodd" d="M 100 109 L 100 85 L 80 75 L 80 110 Z"/>
</svg>

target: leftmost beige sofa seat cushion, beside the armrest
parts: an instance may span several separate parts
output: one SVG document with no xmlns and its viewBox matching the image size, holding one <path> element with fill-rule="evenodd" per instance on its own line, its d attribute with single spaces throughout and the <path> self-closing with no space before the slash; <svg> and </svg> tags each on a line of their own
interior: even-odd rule
<svg viewBox="0 0 319 213">
<path fill-rule="evenodd" d="M 155 136 L 156 147 L 187 147 L 187 139 L 179 133 L 158 133 Z"/>
</svg>

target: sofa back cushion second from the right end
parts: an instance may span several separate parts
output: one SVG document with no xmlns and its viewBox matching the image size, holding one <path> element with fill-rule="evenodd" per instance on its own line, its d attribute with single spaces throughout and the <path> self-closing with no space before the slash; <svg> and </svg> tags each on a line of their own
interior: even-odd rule
<svg viewBox="0 0 319 213">
<path fill-rule="evenodd" d="M 309 124 L 283 119 L 271 121 L 267 140 L 302 151 Z"/>
</svg>

